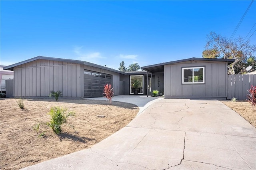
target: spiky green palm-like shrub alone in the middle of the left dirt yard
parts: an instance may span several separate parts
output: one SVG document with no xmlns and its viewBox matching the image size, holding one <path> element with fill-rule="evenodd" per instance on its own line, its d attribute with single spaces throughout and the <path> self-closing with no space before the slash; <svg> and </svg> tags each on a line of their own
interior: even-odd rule
<svg viewBox="0 0 256 170">
<path fill-rule="evenodd" d="M 54 133 L 59 134 L 62 132 L 61 127 L 63 124 L 67 124 L 71 126 L 73 129 L 74 127 L 70 125 L 67 120 L 70 116 L 75 116 L 74 112 L 68 112 L 66 113 L 67 109 L 62 109 L 60 107 L 51 107 L 50 112 L 48 113 L 51 116 L 51 120 L 49 122 L 40 122 L 36 126 L 34 126 L 34 129 L 37 131 L 39 130 L 40 125 L 46 125 L 54 131 Z M 44 134 L 44 132 L 42 133 Z"/>
</svg>

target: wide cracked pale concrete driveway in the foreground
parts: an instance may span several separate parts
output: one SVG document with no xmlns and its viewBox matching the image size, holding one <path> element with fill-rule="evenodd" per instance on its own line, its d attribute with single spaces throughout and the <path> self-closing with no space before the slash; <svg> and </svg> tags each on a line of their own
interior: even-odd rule
<svg viewBox="0 0 256 170">
<path fill-rule="evenodd" d="M 220 101 L 158 98 L 92 148 L 24 169 L 256 169 L 256 128 Z"/>
</svg>

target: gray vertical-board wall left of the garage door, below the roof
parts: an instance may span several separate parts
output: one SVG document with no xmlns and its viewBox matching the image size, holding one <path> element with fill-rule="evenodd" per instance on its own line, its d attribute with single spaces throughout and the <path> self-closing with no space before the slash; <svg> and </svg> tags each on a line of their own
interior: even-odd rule
<svg viewBox="0 0 256 170">
<path fill-rule="evenodd" d="M 14 97 L 82 97 L 84 69 L 81 64 L 38 59 L 14 67 Z"/>
</svg>

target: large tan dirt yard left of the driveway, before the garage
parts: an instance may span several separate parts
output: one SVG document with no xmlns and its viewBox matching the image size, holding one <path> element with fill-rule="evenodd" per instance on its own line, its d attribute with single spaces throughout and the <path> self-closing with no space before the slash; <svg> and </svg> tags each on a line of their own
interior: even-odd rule
<svg viewBox="0 0 256 170">
<path fill-rule="evenodd" d="M 20 109 L 16 99 L 0 100 L 0 169 L 19 169 L 85 148 L 125 127 L 138 113 L 136 105 L 96 100 L 31 99 Z M 70 126 L 54 134 L 50 128 L 33 130 L 39 121 L 49 121 L 50 108 L 59 106 L 74 111 Z M 104 118 L 97 117 L 104 115 Z M 38 137 L 42 132 L 45 135 Z"/>
</svg>

